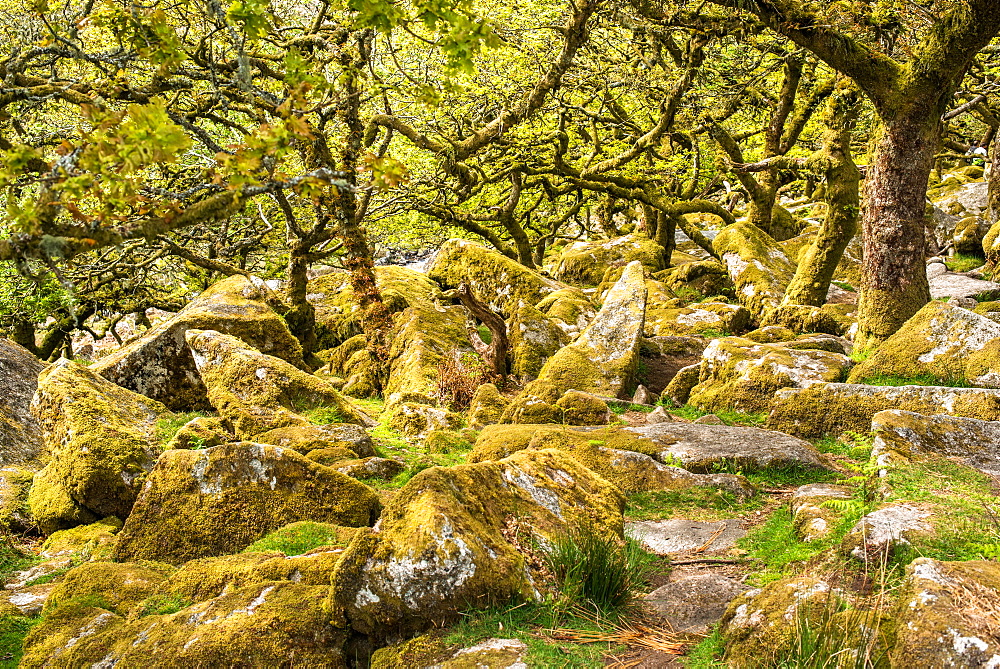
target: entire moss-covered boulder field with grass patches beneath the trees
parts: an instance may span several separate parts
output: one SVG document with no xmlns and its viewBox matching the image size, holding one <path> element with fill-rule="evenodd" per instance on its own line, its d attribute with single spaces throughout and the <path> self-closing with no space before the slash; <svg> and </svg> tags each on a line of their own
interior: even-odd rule
<svg viewBox="0 0 1000 669">
<path fill-rule="evenodd" d="M 941 245 L 981 248 L 977 182 L 939 188 Z M 830 304 L 762 325 L 808 221 L 730 226 L 722 263 L 379 267 L 379 396 L 337 272 L 319 370 L 242 276 L 92 359 L 0 340 L 0 666 L 1000 666 L 1000 285 L 932 259 L 947 301 L 857 352 L 852 246 Z M 635 597 L 569 588 L 578 544 Z"/>
</svg>

